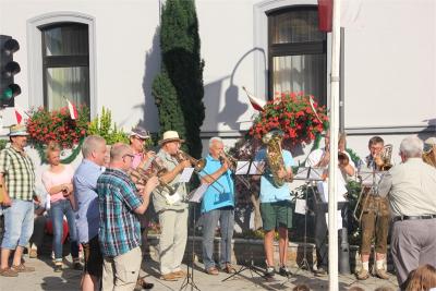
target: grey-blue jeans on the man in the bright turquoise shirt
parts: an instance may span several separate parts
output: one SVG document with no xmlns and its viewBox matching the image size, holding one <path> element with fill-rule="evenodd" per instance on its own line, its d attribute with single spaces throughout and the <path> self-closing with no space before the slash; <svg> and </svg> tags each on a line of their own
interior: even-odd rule
<svg viewBox="0 0 436 291">
<path fill-rule="evenodd" d="M 221 230 L 220 265 L 231 263 L 231 241 L 233 238 L 234 209 L 225 207 L 203 214 L 203 263 L 206 269 L 215 267 L 214 237 L 219 220 Z"/>
</svg>

